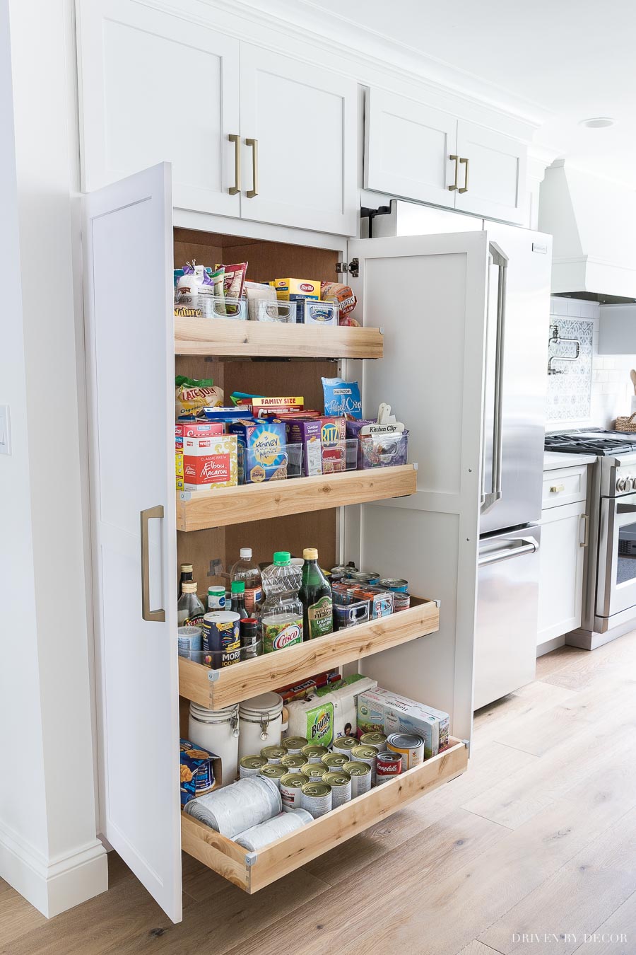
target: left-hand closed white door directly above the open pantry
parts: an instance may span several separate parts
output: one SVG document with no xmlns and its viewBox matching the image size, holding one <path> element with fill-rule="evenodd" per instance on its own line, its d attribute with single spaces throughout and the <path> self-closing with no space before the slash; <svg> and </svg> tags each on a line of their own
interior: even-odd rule
<svg viewBox="0 0 636 955">
<path fill-rule="evenodd" d="M 84 191 L 166 160 L 176 208 L 238 216 L 238 41 L 133 0 L 78 20 Z"/>
</svg>

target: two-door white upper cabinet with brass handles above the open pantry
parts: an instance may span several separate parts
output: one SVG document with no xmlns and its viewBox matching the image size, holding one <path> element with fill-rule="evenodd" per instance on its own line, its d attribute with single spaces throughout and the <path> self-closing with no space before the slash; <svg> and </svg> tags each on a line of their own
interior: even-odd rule
<svg viewBox="0 0 636 955">
<path fill-rule="evenodd" d="M 177 208 L 357 232 L 353 80 L 185 11 L 78 7 L 84 191 L 168 160 Z"/>
</svg>

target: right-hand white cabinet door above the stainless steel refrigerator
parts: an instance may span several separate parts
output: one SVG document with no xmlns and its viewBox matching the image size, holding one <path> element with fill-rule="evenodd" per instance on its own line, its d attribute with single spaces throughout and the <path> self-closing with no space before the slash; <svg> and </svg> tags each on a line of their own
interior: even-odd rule
<svg viewBox="0 0 636 955">
<path fill-rule="evenodd" d="M 460 119 L 457 131 L 460 188 L 455 208 L 508 223 L 523 221 L 527 148 L 477 123 Z"/>
</svg>

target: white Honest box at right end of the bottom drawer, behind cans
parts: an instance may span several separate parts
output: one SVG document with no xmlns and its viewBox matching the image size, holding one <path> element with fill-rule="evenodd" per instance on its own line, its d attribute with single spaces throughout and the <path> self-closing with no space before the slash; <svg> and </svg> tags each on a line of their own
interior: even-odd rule
<svg viewBox="0 0 636 955">
<path fill-rule="evenodd" d="M 448 713 L 409 700 L 390 690 L 371 690 L 358 697 L 358 732 L 416 732 L 424 738 L 424 758 L 448 746 Z"/>
</svg>

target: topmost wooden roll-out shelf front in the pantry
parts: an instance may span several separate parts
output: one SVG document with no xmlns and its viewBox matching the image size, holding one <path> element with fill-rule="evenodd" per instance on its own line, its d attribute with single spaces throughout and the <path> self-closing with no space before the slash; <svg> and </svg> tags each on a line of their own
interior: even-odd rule
<svg viewBox="0 0 636 955">
<path fill-rule="evenodd" d="M 215 358 L 381 358 L 380 329 L 174 317 L 174 354 Z"/>
</svg>

